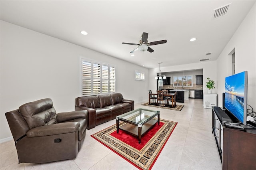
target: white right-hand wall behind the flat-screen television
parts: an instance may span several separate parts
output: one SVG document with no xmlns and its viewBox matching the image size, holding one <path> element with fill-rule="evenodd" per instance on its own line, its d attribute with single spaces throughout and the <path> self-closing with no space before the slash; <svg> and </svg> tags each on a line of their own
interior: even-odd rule
<svg viewBox="0 0 256 170">
<path fill-rule="evenodd" d="M 217 59 L 218 95 L 225 92 L 225 77 L 232 75 L 232 55 L 235 49 L 236 73 L 248 71 L 248 105 L 256 110 L 256 4 L 240 24 Z M 222 98 L 219 98 L 222 106 Z"/>
</svg>

